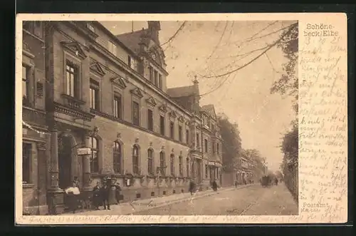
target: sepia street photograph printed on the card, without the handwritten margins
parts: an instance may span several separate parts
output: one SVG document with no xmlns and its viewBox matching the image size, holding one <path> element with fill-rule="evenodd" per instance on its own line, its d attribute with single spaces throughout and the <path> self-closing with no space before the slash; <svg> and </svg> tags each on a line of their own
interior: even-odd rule
<svg viewBox="0 0 356 236">
<path fill-rule="evenodd" d="M 23 21 L 23 215 L 298 215 L 298 21 Z"/>
</svg>

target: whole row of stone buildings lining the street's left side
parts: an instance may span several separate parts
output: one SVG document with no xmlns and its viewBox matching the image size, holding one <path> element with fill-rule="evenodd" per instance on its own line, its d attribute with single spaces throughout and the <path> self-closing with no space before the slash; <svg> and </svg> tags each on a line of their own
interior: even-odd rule
<svg viewBox="0 0 356 236">
<path fill-rule="evenodd" d="M 63 189 L 120 183 L 124 200 L 221 179 L 214 106 L 167 89 L 159 21 L 115 36 L 97 21 L 23 26 L 23 212 L 63 212 Z M 186 87 L 187 88 L 187 87 Z M 176 91 L 177 92 L 177 91 Z"/>
</svg>

